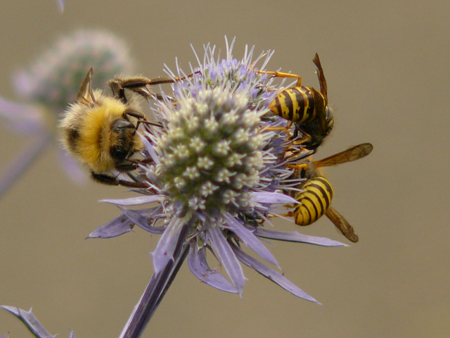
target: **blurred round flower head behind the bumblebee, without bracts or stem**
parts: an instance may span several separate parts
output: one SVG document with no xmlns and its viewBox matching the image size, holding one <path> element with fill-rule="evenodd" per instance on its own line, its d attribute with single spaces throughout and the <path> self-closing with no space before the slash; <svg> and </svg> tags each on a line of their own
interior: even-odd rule
<svg viewBox="0 0 450 338">
<path fill-rule="evenodd" d="M 108 80 L 129 73 L 133 66 L 122 39 L 102 30 L 77 30 L 61 37 L 30 69 L 17 73 L 15 89 L 28 101 L 60 113 L 77 99 L 89 68 L 96 70 L 93 86 L 106 88 Z"/>
</svg>

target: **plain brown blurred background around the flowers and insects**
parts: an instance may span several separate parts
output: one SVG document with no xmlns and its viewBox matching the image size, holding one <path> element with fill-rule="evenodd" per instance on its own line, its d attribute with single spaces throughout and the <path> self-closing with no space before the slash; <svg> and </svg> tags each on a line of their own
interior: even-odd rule
<svg viewBox="0 0 450 338">
<path fill-rule="evenodd" d="M 211 42 L 236 36 L 275 49 L 282 68 L 318 87 L 321 56 L 335 130 L 316 158 L 373 143 L 371 156 L 330 168 L 333 206 L 360 241 L 348 248 L 275 242 L 286 277 L 322 306 L 297 299 L 253 270 L 243 299 L 201 284 L 187 266 L 144 337 L 449 337 L 450 332 L 450 2 L 449 1 L 56 1 L 0 3 L 0 95 L 17 99 L 13 70 L 75 28 L 105 28 L 128 39 L 148 77 L 177 56 L 195 63 Z M 0 173 L 30 143 L 1 129 Z M 56 149 L 0 202 L 0 303 L 28 309 L 52 334 L 117 337 L 153 272 L 158 237 L 142 230 L 84 238 L 119 214 L 104 198 L 122 187 L 75 187 Z M 297 230 L 279 223 L 283 230 Z M 300 229 L 342 237 L 323 218 Z M 0 335 L 31 337 L 0 311 Z"/>
</svg>

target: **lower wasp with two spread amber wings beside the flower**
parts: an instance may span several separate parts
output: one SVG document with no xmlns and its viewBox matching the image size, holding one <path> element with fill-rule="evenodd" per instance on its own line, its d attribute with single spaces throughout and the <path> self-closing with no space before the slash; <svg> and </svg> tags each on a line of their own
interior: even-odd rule
<svg viewBox="0 0 450 338">
<path fill-rule="evenodd" d="M 301 191 L 295 193 L 295 199 L 300 202 L 290 214 L 294 216 L 295 224 L 310 225 L 325 214 L 349 241 L 358 242 L 358 235 L 354 232 L 352 225 L 330 206 L 333 199 L 333 187 L 323 177 L 320 168 L 356 161 L 371 154 L 372 149 L 373 146 L 370 143 L 359 144 L 323 160 L 311 162 L 306 168 L 295 171 L 295 176 L 306 179 L 299 186 Z"/>
</svg>

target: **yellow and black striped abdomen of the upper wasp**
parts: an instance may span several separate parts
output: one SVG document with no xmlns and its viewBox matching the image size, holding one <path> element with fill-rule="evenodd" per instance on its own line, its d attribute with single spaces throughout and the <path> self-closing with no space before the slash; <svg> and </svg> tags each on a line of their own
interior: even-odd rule
<svg viewBox="0 0 450 338">
<path fill-rule="evenodd" d="M 308 123 L 316 117 L 314 96 L 308 87 L 290 87 L 283 90 L 271 102 L 269 109 L 272 113 L 296 123 Z"/>
</svg>

